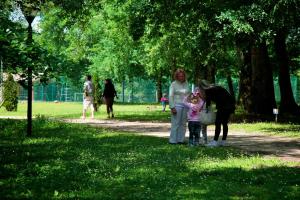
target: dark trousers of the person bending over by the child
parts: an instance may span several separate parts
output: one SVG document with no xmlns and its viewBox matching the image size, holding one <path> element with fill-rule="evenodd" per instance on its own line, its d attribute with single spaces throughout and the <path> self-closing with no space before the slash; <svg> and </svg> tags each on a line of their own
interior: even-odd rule
<svg viewBox="0 0 300 200">
<path fill-rule="evenodd" d="M 218 110 L 217 116 L 216 116 L 216 122 L 215 122 L 215 136 L 214 140 L 218 141 L 220 133 L 221 133 L 221 125 L 223 125 L 223 136 L 222 140 L 226 140 L 227 134 L 228 134 L 228 121 L 230 114 L 232 112 L 229 110 Z"/>
</svg>

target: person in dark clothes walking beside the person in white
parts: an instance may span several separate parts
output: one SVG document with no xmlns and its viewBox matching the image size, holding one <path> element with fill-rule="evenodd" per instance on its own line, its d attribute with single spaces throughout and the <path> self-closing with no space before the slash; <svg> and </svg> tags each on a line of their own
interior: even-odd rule
<svg viewBox="0 0 300 200">
<path fill-rule="evenodd" d="M 105 104 L 106 104 L 107 117 L 114 118 L 115 117 L 113 111 L 114 98 L 115 97 L 118 98 L 118 95 L 111 79 L 105 79 L 104 91 L 102 96 L 104 97 Z"/>
</svg>

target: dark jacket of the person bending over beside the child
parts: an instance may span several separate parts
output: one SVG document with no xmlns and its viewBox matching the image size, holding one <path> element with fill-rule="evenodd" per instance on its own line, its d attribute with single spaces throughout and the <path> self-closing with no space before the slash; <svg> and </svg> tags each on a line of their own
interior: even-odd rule
<svg viewBox="0 0 300 200">
<path fill-rule="evenodd" d="M 223 87 L 212 86 L 205 89 L 206 105 L 210 106 L 213 101 L 217 110 L 225 110 L 234 113 L 235 98 Z"/>
</svg>

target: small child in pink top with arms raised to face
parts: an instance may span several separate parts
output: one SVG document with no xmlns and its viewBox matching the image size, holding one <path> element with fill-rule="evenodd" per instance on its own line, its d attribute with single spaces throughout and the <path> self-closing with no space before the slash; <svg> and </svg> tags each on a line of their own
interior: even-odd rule
<svg viewBox="0 0 300 200">
<path fill-rule="evenodd" d="M 200 110 L 203 106 L 203 100 L 200 98 L 199 93 L 195 90 L 194 93 L 189 95 L 184 99 L 184 104 L 189 108 L 188 117 L 188 129 L 189 135 L 189 145 L 197 146 L 200 140 Z"/>
</svg>

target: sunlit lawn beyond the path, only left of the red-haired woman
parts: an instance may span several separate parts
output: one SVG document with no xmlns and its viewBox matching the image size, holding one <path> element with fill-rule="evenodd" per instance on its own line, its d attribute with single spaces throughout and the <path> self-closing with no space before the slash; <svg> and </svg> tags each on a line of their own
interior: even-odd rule
<svg viewBox="0 0 300 200">
<path fill-rule="evenodd" d="M 88 110 L 87 116 L 90 111 Z M 170 121 L 169 112 L 161 112 L 161 106 L 155 105 L 130 105 L 130 104 L 115 104 L 114 112 L 116 119 L 120 120 L 153 120 L 153 121 Z M 82 103 L 70 102 L 33 102 L 33 116 L 45 115 L 55 118 L 79 118 L 82 115 Z M 27 116 L 27 103 L 19 103 L 17 112 L 7 112 L 3 107 L 0 108 L 0 116 Z M 95 112 L 95 117 L 105 119 L 106 106 L 102 104 L 99 112 Z"/>
</svg>

